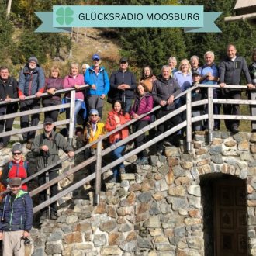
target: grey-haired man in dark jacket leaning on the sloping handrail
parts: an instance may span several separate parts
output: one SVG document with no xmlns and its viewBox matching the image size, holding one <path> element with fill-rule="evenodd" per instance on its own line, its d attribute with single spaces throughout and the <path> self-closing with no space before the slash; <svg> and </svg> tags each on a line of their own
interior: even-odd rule
<svg viewBox="0 0 256 256">
<path fill-rule="evenodd" d="M 175 110 L 175 96 L 182 92 L 181 88 L 178 86 L 178 83 L 175 81 L 175 78 L 170 77 L 171 71 L 169 66 L 163 66 L 161 69 L 161 75 L 154 81 L 152 95 L 154 102 L 162 106 L 162 108 L 157 112 L 157 119 L 160 119 L 163 116 L 166 116 L 168 113 Z M 170 130 L 172 127 L 177 126 L 179 123 L 182 123 L 182 119 L 179 115 L 168 119 L 166 122 L 161 123 L 157 126 L 157 136 L 161 135 L 167 130 Z M 165 143 L 167 145 L 176 144 L 178 141 L 174 140 L 175 134 L 172 134 L 170 137 L 166 138 Z M 164 149 L 164 144 L 162 141 L 157 143 L 158 154 L 162 154 Z"/>
</svg>

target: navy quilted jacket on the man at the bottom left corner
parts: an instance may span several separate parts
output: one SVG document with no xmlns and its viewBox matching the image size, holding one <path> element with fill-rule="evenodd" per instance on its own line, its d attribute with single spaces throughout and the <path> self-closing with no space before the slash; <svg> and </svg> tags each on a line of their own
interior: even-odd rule
<svg viewBox="0 0 256 256">
<path fill-rule="evenodd" d="M 11 194 L 3 199 L 0 210 L 1 231 L 29 231 L 33 223 L 33 202 L 29 194 L 22 189 L 16 195 L 11 205 Z"/>
</svg>

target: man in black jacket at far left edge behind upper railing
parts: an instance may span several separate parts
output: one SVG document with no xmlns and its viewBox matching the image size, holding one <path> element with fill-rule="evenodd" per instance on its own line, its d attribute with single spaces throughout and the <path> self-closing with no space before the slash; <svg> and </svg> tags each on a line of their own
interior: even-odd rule
<svg viewBox="0 0 256 256">
<path fill-rule="evenodd" d="M 10 102 L 18 98 L 18 85 L 15 78 L 9 74 L 8 67 L 0 67 L 0 101 Z M 5 116 L 18 111 L 18 103 L 9 103 L 0 106 L 0 116 Z M 14 118 L 0 121 L 0 133 L 12 130 Z M 0 149 L 6 147 L 9 143 L 10 136 L 0 138 Z"/>
</svg>

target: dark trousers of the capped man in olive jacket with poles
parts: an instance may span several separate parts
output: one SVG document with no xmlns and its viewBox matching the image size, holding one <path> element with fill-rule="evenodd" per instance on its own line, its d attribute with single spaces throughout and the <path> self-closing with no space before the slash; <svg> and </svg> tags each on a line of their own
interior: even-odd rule
<svg viewBox="0 0 256 256">
<path fill-rule="evenodd" d="M 57 171 L 49 171 L 49 180 L 51 181 L 52 179 L 56 178 L 58 176 L 58 170 Z M 44 185 L 46 184 L 46 175 L 45 173 L 43 175 L 39 175 L 38 177 L 38 184 L 39 185 Z M 57 183 L 50 186 L 50 197 L 53 197 L 54 195 L 57 195 L 58 190 L 57 190 Z M 43 190 L 39 194 L 39 202 L 42 203 L 47 200 L 47 190 Z M 54 210 L 55 213 L 57 213 L 57 202 L 53 202 L 50 205 L 51 210 Z M 44 208 L 42 211 L 46 211 L 47 208 Z"/>
</svg>

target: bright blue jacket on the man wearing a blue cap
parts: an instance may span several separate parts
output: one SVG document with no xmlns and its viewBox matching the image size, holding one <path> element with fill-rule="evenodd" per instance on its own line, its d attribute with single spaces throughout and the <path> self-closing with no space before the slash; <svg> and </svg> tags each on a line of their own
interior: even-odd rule
<svg viewBox="0 0 256 256">
<path fill-rule="evenodd" d="M 89 67 L 85 72 L 85 84 L 96 85 L 96 89 L 89 88 L 86 90 L 87 95 L 107 95 L 109 92 L 109 76 L 104 67 L 99 68 L 98 75 Z"/>
</svg>

